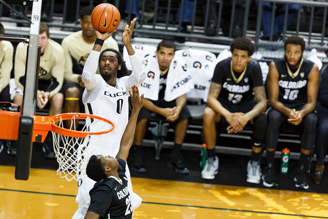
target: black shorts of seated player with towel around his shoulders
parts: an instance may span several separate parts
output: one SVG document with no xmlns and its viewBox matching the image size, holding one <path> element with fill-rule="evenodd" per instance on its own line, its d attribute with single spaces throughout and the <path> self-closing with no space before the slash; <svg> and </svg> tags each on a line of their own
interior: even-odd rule
<svg viewBox="0 0 328 219">
<path fill-rule="evenodd" d="M 161 108 L 173 108 L 176 106 L 175 100 L 170 101 L 170 102 L 166 102 L 164 100 L 157 100 L 157 101 L 150 100 L 150 101 L 152 101 L 157 107 L 161 107 Z M 144 118 L 150 119 L 152 117 L 152 113 L 153 112 L 149 111 L 148 109 L 141 108 L 139 115 L 138 115 L 137 122 L 139 122 L 141 119 L 144 119 Z M 157 116 L 161 116 L 161 115 L 157 114 Z M 161 116 L 161 117 L 163 117 L 163 116 Z M 174 122 L 169 122 L 169 123 L 171 125 L 175 126 L 182 119 L 190 118 L 190 117 L 191 117 L 191 114 L 189 112 L 189 109 L 187 108 L 187 106 L 184 106 L 180 112 L 178 119 Z"/>
</svg>

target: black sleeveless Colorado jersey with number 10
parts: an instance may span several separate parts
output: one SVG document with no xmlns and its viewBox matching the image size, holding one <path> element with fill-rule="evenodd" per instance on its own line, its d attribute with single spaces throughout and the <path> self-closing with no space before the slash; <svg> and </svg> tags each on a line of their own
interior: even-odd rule
<svg viewBox="0 0 328 219">
<path fill-rule="evenodd" d="M 278 100 L 288 108 L 304 106 L 307 103 L 308 75 L 314 65 L 312 61 L 303 60 L 295 73 L 288 71 L 283 59 L 274 61 L 279 73 Z"/>
</svg>

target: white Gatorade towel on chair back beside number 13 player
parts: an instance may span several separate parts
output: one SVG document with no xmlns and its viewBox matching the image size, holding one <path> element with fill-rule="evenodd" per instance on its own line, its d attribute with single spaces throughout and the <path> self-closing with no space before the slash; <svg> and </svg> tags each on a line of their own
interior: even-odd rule
<svg viewBox="0 0 328 219">
<path fill-rule="evenodd" d="M 204 50 L 188 49 L 176 51 L 175 57 L 182 58 L 187 63 L 188 73 L 194 83 L 195 89 L 187 93 L 187 98 L 189 100 L 202 99 L 207 102 L 211 79 L 217 63 L 215 54 Z"/>
</svg>

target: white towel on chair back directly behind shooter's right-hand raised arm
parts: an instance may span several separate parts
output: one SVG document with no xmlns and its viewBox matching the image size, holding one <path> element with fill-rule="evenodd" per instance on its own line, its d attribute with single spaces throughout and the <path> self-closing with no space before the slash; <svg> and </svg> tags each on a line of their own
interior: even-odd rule
<svg viewBox="0 0 328 219">
<path fill-rule="evenodd" d="M 143 60 L 146 56 L 155 53 L 157 50 L 155 46 L 149 46 L 145 44 L 132 44 L 132 47 L 135 53 L 137 54 L 139 60 Z M 123 47 L 123 60 L 125 61 L 127 69 L 129 71 L 132 71 L 129 54 L 125 46 Z"/>
</svg>

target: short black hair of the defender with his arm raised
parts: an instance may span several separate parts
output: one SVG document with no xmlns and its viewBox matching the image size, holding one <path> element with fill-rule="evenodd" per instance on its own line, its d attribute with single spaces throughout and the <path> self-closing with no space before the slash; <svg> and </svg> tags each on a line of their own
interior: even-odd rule
<svg viewBox="0 0 328 219">
<path fill-rule="evenodd" d="M 101 160 L 95 155 L 89 159 L 86 172 L 87 176 L 96 182 L 107 178 Z"/>
</svg>

